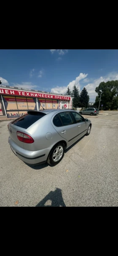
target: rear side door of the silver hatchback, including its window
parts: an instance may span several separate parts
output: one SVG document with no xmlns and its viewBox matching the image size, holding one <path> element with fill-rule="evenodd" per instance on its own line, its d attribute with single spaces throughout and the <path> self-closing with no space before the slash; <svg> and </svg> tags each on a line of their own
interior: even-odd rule
<svg viewBox="0 0 118 256">
<path fill-rule="evenodd" d="M 77 140 L 78 125 L 69 111 L 56 114 L 52 119 L 52 125 L 59 135 L 67 140 L 68 147 Z"/>
</svg>

